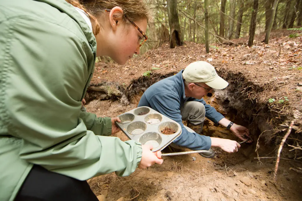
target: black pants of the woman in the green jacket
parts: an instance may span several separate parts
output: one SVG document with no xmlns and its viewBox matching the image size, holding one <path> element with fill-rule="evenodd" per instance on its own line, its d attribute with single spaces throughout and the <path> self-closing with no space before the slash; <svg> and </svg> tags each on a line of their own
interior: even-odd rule
<svg viewBox="0 0 302 201">
<path fill-rule="evenodd" d="M 34 165 L 15 201 L 98 201 L 87 181 L 54 173 Z"/>
</svg>

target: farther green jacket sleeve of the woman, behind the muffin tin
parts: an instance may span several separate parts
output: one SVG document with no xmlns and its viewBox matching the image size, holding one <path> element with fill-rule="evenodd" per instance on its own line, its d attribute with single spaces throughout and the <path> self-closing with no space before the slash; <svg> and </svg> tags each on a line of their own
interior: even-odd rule
<svg viewBox="0 0 302 201">
<path fill-rule="evenodd" d="M 80 118 L 84 121 L 87 130 L 93 131 L 96 135 L 111 135 L 111 118 L 101 118 L 93 113 L 83 111 L 80 111 Z"/>
</svg>

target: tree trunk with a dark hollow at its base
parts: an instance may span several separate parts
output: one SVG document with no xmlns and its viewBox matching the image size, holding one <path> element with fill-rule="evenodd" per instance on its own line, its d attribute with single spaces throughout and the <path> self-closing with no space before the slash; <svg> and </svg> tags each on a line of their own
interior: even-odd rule
<svg viewBox="0 0 302 201">
<path fill-rule="evenodd" d="M 177 11 L 177 1 L 167 0 L 167 5 L 170 26 L 170 48 L 175 48 L 176 45 L 181 46 L 183 43 Z"/>
</svg>

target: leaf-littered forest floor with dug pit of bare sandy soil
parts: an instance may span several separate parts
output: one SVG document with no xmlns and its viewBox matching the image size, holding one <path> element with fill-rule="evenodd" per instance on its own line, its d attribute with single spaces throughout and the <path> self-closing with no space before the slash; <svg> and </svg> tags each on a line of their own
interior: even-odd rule
<svg viewBox="0 0 302 201">
<path fill-rule="evenodd" d="M 290 38 L 290 34 L 297 37 Z M 302 175 L 290 169 L 302 167 L 301 151 L 290 151 L 289 145 L 299 146 L 302 141 L 302 35 L 276 30 L 269 45 L 261 42 L 264 36 L 256 35 L 253 47 L 246 45 L 246 38 L 233 40 L 236 44 L 212 44 L 209 54 L 203 44 L 186 42 L 175 49 L 164 44 L 123 66 L 98 62 L 85 107 L 100 117 L 116 117 L 136 108 L 142 93 L 156 81 L 191 62 L 208 61 L 230 84 L 205 97 L 206 102 L 231 121 L 248 127 L 254 143 L 243 144 L 234 154 L 215 149 L 213 159 L 179 155 L 164 158 L 163 165 L 137 169 L 128 177 L 114 173 L 94 177 L 88 180 L 94 193 L 103 194 L 108 201 L 130 200 L 138 192 L 132 200 L 301 200 Z M 280 161 L 277 182 L 273 182 L 275 159 L 257 156 L 276 157 L 291 121 L 294 127 L 281 157 L 292 161 Z M 203 134 L 239 140 L 209 120 Z M 128 140 L 122 132 L 114 136 Z"/>
</svg>

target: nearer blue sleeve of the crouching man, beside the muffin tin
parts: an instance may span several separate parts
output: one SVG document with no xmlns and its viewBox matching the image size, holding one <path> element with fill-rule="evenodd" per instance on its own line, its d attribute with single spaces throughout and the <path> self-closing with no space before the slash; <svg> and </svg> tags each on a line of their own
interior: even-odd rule
<svg viewBox="0 0 302 201">
<path fill-rule="evenodd" d="M 182 127 L 182 134 L 173 141 L 175 144 L 192 150 L 209 150 L 211 148 L 210 137 L 191 133 L 184 127 L 179 108 L 180 102 L 173 94 L 157 93 L 148 102 L 151 108 L 176 121 Z"/>
</svg>

